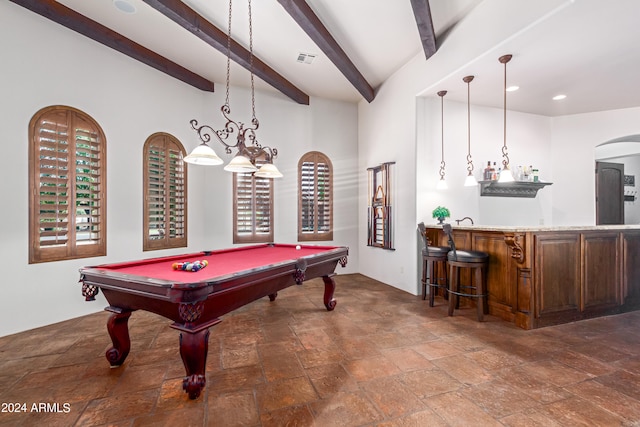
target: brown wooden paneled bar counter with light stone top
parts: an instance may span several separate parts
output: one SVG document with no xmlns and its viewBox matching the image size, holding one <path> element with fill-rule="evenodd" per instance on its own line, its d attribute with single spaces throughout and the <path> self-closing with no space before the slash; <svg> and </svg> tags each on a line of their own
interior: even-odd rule
<svg viewBox="0 0 640 427">
<path fill-rule="evenodd" d="M 442 226 L 426 234 L 447 245 Z M 640 309 L 638 225 L 454 225 L 453 238 L 458 249 L 489 253 L 489 314 L 521 328 Z"/>
</svg>

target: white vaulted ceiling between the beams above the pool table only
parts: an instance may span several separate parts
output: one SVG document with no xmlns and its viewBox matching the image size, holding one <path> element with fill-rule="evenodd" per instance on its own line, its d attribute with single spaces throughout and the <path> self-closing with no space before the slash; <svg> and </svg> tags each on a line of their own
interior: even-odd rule
<svg viewBox="0 0 640 427">
<path fill-rule="evenodd" d="M 200 89 L 210 90 L 207 81 L 224 84 L 227 0 L 11 1 Z M 309 96 L 372 101 L 375 88 L 421 50 L 433 54 L 436 33 L 478 2 L 439 1 L 432 23 L 429 0 L 254 0 L 258 86 L 303 104 Z M 248 13 L 246 0 L 233 2 L 231 83 L 237 86 L 249 82 Z M 301 54 L 312 63 L 298 62 Z"/>
</svg>

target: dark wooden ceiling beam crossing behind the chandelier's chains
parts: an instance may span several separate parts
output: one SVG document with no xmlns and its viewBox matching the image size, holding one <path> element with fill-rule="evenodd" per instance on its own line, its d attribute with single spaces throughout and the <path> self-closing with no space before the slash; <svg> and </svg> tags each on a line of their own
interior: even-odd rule
<svg viewBox="0 0 640 427">
<path fill-rule="evenodd" d="M 143 1 L 215 49 L 227 54 L 227 34 L 180 0 Z M 233 61 L 251 71 L 251 52 L 233 39 L 231 39 L 230 56 Z M 309 95 L 302 92 L 255 55 L 253 56 L 253 73 L 295 102 L 309 105 Z"/>
</svg>

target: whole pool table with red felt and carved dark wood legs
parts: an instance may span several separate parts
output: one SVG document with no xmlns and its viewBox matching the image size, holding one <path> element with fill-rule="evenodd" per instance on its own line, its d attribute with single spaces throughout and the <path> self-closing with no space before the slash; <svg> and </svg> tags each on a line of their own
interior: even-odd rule
<svg viewBox="0 0 640 427">
<path fill-rule="evenodd" d="M 186 376 L 183 389 L 196 399 L 205 386 L 209 328 L 220 316 L 279 290 L 322 277 L 324 305 L 331 311 L 333 275 L 338 263 L 346 266 L 348 248 L 262 244 L 232 249 L 104 264 L 80 269 L 82 294 L 94 300 L 102 290 L 111 312 L 107 330 L 113 347 L 106 352 L 112 367 L 120 366 L 131 347 L 128 321 L 135 310 L 146 310 L 173 320 L 180 331 L 180 355 Z M 198 271 L 174 269 L 179 263 L 207 261 Z"/>
</svg>

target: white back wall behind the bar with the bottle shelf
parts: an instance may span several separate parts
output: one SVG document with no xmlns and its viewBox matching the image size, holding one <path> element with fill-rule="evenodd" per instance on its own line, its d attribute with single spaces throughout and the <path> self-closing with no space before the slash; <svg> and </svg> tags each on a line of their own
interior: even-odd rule
<svg viewBox="0 0 640 427">
<path fill-rule="evenodd" d="M 461 85 L 464 83 L 461 82 Z M 443 88 L 444 89 L 444 88 Z M 451 211 L 449 222 L 471 217 L 476 225 L 540 225 L 551 223 L 553 186 L 538 192 L 535 198 L 481 197 L 480 186 L 465 187 L 467 176 L 467 105 L 444 101 L 446 181 L 448 189 L 437 190 L 441 159 L 440 99 L 419 98 L 417 116 L 419 191 L 416 194 L 417 219 L 436 223 L 431 212 L 436 206 Z M 503 110 L 471 106 L 471 155 L 474 175 L 482 180 L 487 161 L 497 166 L 502 161 Z M 507 147 L 512 169 L 533 165 L 540 170 L 541 181 L 551 181 L 551 119 L 515 111 L 507 112 Z M 419 222 L 418 221 L 418 222 Z M 469 222 L 466 222 L 469 224 Z"/>
</svg>

